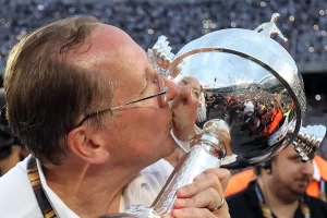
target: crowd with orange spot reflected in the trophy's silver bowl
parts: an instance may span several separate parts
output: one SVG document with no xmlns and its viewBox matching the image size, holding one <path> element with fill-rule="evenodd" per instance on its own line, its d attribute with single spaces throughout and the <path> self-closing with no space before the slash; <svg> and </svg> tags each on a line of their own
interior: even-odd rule
<svg viewBox="0 0 327 218">
<path fill-rule="evenodd" d="M 211 94 L 206 96 L 207 114 L 211 111 L 213 118 L 227 121 L 231 129 L 240 126 L 241 133 L 268 136 L 282 125 L 291 113 L 291 102 L 276 96 L 274 101 L 269 98 L 257 97 L 251 99 L 243 96 L 225 96 Z M 283 120 L 283 121 L 282 121 Z"/>
</svg>

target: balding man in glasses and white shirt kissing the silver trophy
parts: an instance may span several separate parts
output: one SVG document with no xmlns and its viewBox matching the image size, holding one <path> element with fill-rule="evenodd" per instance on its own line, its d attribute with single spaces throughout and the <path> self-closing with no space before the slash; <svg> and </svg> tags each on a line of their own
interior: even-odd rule
<svg viewBox="0 0 327 218">
<path fill-rule="evenodd" d="M 0 179 L 1 217 L 149 206 L 172 170 L 162 158 L 174 150 L 168 102 L 178 89 L 168 80 L 160 89 L 159 80 L 130 36 L 94 17 L 58 21 L 22 39 L 4 88 L 10 125 L 33 156 Z M 187 106 L 187 98 L 177 100 Z M 229 217 L 228 179 L 226 170 L 203 172 L 178 190 L 170 216 Z"/>
</svg>

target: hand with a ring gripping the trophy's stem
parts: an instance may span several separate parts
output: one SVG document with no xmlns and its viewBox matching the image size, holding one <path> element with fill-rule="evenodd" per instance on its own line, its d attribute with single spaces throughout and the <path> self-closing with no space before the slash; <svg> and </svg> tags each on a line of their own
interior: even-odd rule
<svg viewBox="0 0 327 218">
<path fill-rule="evenodd" d="M 209 169 L 198 174 L 193 183 L 178 190 L 174 209 L 167 218 L 230 218 L 227 203 L 217 209 L 229 178 L 226 169 Z"/>
</svg>

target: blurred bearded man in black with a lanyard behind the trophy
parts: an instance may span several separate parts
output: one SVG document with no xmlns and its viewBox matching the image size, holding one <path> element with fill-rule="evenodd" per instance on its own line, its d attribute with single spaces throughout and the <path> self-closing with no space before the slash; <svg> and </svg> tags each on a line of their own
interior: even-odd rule
<svg viewBox="0 0 327 218">
<path fill-rule="evenodd" d="M 313 162 L 302 162 L 293 145 L 257 166 L 255 173 L 257 179 L 244 191 L 227 198 L 231 217 L 327 217 L 327 205 L 305 194 Z"/>
</svg>

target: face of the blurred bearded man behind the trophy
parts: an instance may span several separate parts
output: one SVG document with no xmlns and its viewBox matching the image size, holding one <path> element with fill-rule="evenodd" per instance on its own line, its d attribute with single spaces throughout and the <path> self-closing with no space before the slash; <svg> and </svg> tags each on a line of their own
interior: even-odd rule
<svg viewBox="0 0 327 218">
<path fill-rule="evenodd" d="M 286 195 L 301 196 L 313 178 L 312 161 L 302 162 L 293 145 L 277 155 L 271 165 L 272 182 L 279 185 L 279 192 Z"/>
</svg>

